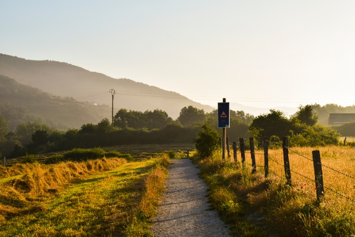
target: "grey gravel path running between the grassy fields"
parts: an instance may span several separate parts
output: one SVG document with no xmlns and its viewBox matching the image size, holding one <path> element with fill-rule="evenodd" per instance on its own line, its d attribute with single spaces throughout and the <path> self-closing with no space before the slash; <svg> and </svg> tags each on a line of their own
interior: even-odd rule
<svg viewBox="0 0 355 237">
<path fill-rule="evenodd" d="M 153 218 L 154 236 L 230 236 L 216 211 L 206 211 L 206 184 L 189 159 L 171 160 L 163 201 Z"/>
</svg>

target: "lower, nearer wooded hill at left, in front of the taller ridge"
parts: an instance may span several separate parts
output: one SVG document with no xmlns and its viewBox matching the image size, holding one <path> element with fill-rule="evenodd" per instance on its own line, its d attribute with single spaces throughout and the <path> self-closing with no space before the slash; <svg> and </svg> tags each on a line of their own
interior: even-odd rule
<svg viewBox="0 0 355 237">
<path fill-rule="evenodd" d="M 0 75 L 0 115 L 12 131 L 20 123 L 40 121 L 67 129 L 111 118 L 108 105 L 90 105 L 70 97 L 55 96 Z"/>
</svg>

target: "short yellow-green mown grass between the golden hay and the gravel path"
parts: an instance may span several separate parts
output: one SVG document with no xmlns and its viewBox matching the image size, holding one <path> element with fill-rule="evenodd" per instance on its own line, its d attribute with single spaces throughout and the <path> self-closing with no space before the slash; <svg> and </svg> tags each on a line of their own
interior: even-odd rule
<svg viewBox="0 0 355 237">
<path fill-rule="evenodd" d="M 164 188 L 167 165 L 166 156 L 125 163 L 77 177 L 56 194 L 24 198 L 37 208 L 3 215 L 0 236 L 150 236 L 150 218 Z M 9 187 L 1 188 L 6 192 Z"/>
</svg>

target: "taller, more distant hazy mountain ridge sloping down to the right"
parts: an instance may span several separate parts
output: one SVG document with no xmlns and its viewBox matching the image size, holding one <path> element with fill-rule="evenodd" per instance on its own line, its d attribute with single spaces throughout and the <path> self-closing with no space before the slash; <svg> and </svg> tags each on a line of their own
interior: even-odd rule
<svg viewBox="0 0 355 237">
<path fill-rule="evenodd" d="M 173 119 L 185 106 L 191 105 L 206 112 L 213 110 L 173 91 L 129 79 L 114 79 L 65 62 L 26 60 L 0 54 L 0 75 L 52 94 L 87 98 L 97 104 L 111 105 L 109 90 L 114 88 L 117 93 L 114 100 L 116 108 L 138 111 L 161 109 Z"/>
</svg>

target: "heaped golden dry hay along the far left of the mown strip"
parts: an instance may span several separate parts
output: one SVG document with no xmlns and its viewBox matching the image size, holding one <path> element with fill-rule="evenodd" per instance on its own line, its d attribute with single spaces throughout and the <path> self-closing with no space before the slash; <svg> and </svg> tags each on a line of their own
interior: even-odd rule
<svg viewBox="0 0 355 237">
<path fill-rule="evenodd" d="M 41 201 L 53 196 L 65 185 L 87 175 L 108 171 L 126 163 L 125 159 L 97 159 L 52 165 L 20 164 L 8 168 L 12 175 L 24 174 L 2 182 L 0 186 L 0 221 L 8 216 L 44 209 Z M 10 171 L 10 172 L 9 172 Z"/>
</svg>

